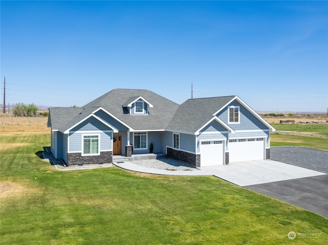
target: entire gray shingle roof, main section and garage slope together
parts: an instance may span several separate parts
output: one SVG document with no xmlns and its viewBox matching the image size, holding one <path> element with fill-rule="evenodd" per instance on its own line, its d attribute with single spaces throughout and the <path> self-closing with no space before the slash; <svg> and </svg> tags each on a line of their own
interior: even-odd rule
<svg viewBox="0 0 328 245">
<path fill-rule="evenodd" d="M 149 115 L 130 115 L 122 105 L 141 96 L 154 107 Z M 149 90 L 113 89 L 81 108 L 50 108 L 52 129 L 65 132 L 102 107 L 134 130 L 174 130 L 195 133 L 235 96 L 188 99 L 180 106 Z"/>
</svg>

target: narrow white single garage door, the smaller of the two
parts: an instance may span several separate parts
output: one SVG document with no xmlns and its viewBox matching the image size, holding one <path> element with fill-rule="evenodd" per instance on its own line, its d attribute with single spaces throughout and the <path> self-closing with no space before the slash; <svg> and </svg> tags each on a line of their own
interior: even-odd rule
<svg viewBox="0 0 328 245">
<path fill-rule="evenodd" d="M 201 141 L 200 166 L 223 164 L 223 140 Z"/>
</svg>

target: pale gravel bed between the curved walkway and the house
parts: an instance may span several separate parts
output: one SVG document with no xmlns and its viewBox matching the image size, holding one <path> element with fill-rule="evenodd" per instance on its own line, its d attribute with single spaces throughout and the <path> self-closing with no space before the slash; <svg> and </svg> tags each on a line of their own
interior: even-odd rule
<svg viewBox="0 0 328 245">
<path fill-rule="evenodd" d="M 150 160 L 137 160 L 131 161 L 132 164 L 139 165 L 142 167 L 153 168 L 153 169 L 166 169 L 166 170 L 187 170 L 194 171 L 198 170 L 196 168 L 187 165 L 183 161 L 178 161 L 168 157 L 161 157 L 158 159 L 150 159 Z"/>
</svg>

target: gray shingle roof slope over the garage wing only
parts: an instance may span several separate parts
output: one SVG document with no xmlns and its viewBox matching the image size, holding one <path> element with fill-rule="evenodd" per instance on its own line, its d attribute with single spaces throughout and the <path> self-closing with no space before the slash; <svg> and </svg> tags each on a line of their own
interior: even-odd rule
<svg viewBox="0 0 328 245">
<path fill-rule="evenodd" d="M 167 130 L 195 133 L 235 96 L 188 99 L 179 106 Z"/>
</svg>

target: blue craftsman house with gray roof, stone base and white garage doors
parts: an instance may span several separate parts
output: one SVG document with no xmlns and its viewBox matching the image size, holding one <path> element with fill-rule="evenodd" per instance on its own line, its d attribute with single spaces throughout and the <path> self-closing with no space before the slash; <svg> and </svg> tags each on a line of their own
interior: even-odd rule
<svg viewBox="0 0 328 245">
<path fill-rule="evenodd" d="M 149 90 L 114 89 L 81 108 L 50 108 L 51 152 L 67 165 L 165 153 L 200 166 L 266 159 L 275 129 L 238 96 L 178 105 Z"/>
</svg>

